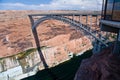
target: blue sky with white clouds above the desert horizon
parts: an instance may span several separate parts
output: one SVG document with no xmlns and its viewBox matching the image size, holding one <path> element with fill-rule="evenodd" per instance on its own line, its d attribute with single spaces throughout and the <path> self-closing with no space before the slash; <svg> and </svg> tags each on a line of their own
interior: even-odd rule
<svg viewBox="0 0 120 80">
<path fill-rule="evenodd" d="M 101 10 L 102 0 L 0 0 L 0 10 Z"/>
</svg>

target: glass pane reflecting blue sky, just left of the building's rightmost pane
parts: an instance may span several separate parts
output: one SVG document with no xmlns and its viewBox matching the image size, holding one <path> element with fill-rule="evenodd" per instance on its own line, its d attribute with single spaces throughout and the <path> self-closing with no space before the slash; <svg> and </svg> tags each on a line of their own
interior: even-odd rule
<svg viewBox="0 0 120 80">
<path fill-rule="evenodd" d="M 107 20 L 112 19 L 113 2 L 114 2 L 114 0 L 107 1 L 106 17 L 105 17 L 105 19 L 107 19 Z"/>
</svg>

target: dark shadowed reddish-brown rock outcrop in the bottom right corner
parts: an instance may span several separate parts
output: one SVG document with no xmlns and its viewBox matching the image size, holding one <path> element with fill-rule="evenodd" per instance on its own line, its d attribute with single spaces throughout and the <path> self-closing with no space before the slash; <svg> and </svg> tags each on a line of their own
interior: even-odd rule
<svg viewBox="0 0 120 80">
<path fill-rule="evenodd" d="M 74 80 L 120 80 L 120 58 L 107 48 L 82 61 Z"/>
</svg>

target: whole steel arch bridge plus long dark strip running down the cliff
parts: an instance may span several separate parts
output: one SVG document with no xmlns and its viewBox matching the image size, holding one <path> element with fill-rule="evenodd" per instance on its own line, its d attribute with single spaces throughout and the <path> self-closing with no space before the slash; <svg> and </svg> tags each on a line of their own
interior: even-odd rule
<svg viewBox="0 0 120 80">
<path fill-rule="evenodd" d="M 45 63 L 43 55 L 41 54 L 42 52 L 40 49 L 40 42 L 36 30 L 36 27 L 45 20 L 50 20 L 50 19 L 59 20 L 64 23 L 70 24 L 76 30 L 80 30 L 84 32 L 84 34 L 87 35 L 87 37 L 89 37 L 89 39 L 93 43 L 93 53 L 97 53 L 102 49 L 102 47 L 108 46 L 107 42 L 109 40 L 107 40 L 107 38 L 102 36 L 101 31 L 92 29 L 93 18 L 96 19 L 94 25 L 99 26 L 99 16 L 100 16 L 99 13 L 43 13 L 43 14 L 30 14 L 28 16 L 31 21 L 31 28 L 38 52 L 40 53 L 40 58 L 43 61 L 44 66 L 46 67 L 47 65 Z M 83 21 L 82 17 L 85 17 L 84 23 L 82 23 Z M 89 22 L 88 19 L 90 19 Z"/>
</svg>

